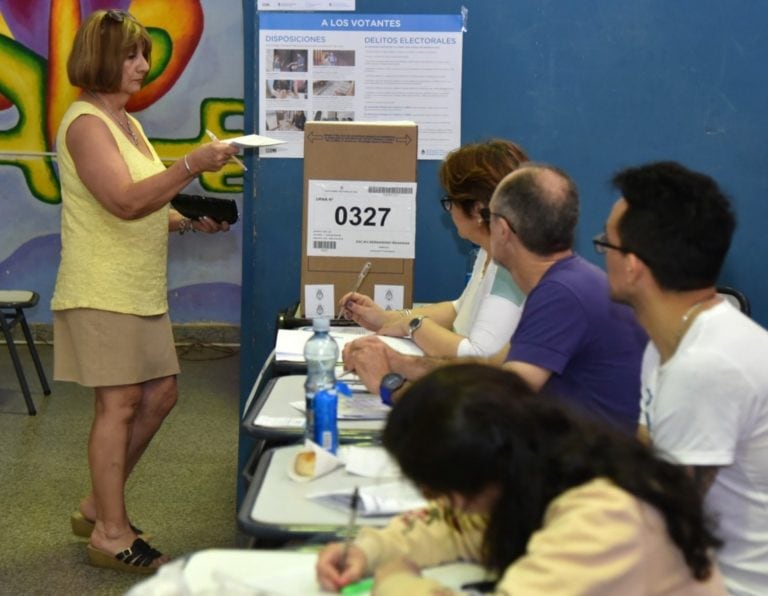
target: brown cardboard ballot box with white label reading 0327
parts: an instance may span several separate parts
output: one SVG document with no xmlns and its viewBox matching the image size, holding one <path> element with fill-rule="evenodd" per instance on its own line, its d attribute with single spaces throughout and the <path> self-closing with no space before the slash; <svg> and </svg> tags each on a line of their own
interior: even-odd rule
<svg viewBox="0 0 768 596">
<path fill-rule="evenodd" d="M 307 122 L 302 314 L 321 314 L 306 311 L 307 285 L 333 285 L 338 302 L 369 261 L 358 291 L 373 297 L 386 286 L 412 305 L 416 147 L 413 122 Z"/>
</svg>

